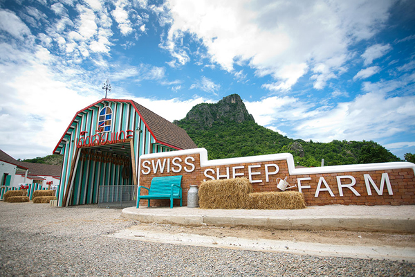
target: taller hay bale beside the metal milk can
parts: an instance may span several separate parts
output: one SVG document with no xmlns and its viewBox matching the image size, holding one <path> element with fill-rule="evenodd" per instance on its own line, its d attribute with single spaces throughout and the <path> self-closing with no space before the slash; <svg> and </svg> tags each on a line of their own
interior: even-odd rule
<svg viewBox="0 0 415 277">
<path fill-rule="evenodd" d="M 199 207 L 246 208 L 252 191 L 254 188 L 245 177 L 205 181 L 199 187 Z"/>
</svg>

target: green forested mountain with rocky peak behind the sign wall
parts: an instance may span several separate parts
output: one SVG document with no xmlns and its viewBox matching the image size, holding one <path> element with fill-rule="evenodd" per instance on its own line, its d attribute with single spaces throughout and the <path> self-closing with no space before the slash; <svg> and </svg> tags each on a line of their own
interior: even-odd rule
<svg viewBox="0 0 415 277">
<path fill-rule="evenodd" d="M 322 159 L 325 166 L 400 161 L 374 141 L 317 143 L 282 136 L 255 123 L 237 94 L 216 104 L 196 105 L 174 124 L 185 129 L 199 148 L 206 148 L 209 159 L 289 152 L 297 166 L 321 166 Z"/>
</svg>

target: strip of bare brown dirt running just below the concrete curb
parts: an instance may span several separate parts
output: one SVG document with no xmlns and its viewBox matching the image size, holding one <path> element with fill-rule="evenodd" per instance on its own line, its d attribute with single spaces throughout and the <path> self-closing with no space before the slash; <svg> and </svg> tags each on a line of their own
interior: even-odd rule
<svg viewBox="0 0 415 277">
<path fill-rule="evenodd" d="M 302 231 L 223 226 L 175 226 L 157 223 L 140 223 L 132 226 L 131 229 L 159 233 L 191 233 L 196 235 L 215 236 L 217 238 L 236 237 L 250 240 L 292 240 L 297 242 L 316 242 L 338 245 L 415 247 L 415 234 L 353 231 Z"/>
</svg>

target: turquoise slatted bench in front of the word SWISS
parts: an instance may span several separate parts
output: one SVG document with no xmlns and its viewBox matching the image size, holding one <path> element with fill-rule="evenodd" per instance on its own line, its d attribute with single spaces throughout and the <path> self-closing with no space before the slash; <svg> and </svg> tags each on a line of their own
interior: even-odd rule
<svg viewBox="0 0 415 277">
<path fill-rule="evenodd" d="M 137 208 L 141 199 L 148 199 L 150 206 L 150 199 L 170 199 L 170 208 L 173 208 L 173 199 L 180 199 L 180 206 L 182 206 L 182 176 L 167 176 L 154 177 L 151 179 L 150 188 L 145 186 L 138 187 L 137 193 Z M 140 195 L 141 188 L 149 191 L 148 195 Z"/>
</svg>

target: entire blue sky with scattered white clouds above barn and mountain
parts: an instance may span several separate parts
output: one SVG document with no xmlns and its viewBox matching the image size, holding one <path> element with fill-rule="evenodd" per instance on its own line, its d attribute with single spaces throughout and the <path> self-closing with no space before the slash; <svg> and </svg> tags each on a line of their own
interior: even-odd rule
<svg viewBox="0 0 415 277">
<path fill-rule="evenodd" d="M 0 148 L 51 154 L 104 97 L 167 118 L 238 93 L 293 139 L 415 152 L 414 1 L 0 0 Z"/>
</svg>

